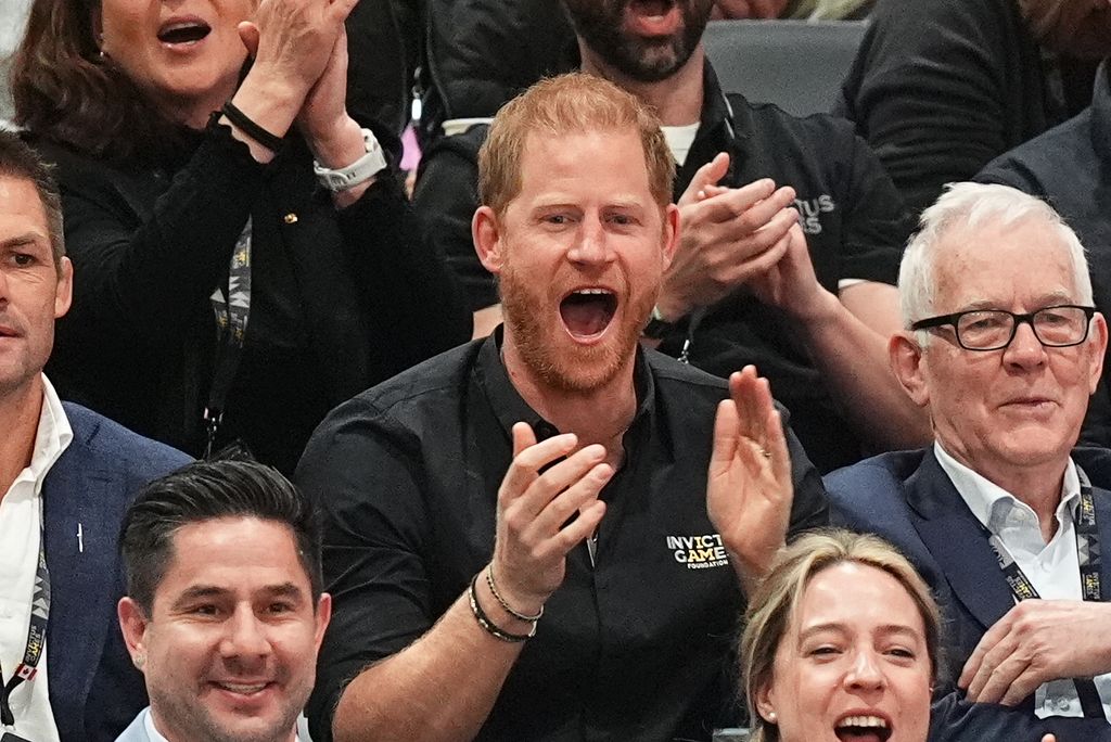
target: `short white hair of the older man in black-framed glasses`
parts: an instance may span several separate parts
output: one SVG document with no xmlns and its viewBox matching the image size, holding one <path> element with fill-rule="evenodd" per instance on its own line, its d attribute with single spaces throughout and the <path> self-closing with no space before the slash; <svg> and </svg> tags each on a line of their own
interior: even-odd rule
<svg viewBox="0 0 1111 742">
<path fill-rule="evenodd" d="M 899 267 L 899 309 L 903 327 L 909 330 L 911 324 L 933 313 L 934 259 L 942 238 L 951 230 L 973 231 L 987 223 L 1011 227 L 1031 219 L 1050 227 L 1069 250 L 1077 302 L 1092 304 L 1092 279 L 1088 274 L 1084 248 L 1052 207 L 1009 186 L 949 183 L 933 205 L 922 212 L 920 229 L 910 239 Z M 925 332 L 919 333 L 919 342 L 924 345 L 928 337 Z"/>
</svg>

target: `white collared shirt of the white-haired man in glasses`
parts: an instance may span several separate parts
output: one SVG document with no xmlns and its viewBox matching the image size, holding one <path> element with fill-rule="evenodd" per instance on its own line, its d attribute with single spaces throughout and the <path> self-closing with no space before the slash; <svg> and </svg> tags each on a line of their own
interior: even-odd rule
<svg viewBox="0 0 1111 742">
<path fill-rule="evenodd" d="M 1030 505 L 953 459 L 940 443 L 934 442 L 933 452 L 969 510 L 999 537 L 1039 595 L 1045 600 L 1083 599 L 1073 523 L 1073 513 L 1080 502 L 1080 477 L 1072 459 L 1064 469 L 1061 503 L 1054 513 L 1057 532 L 1045 543 L 1038 514 Z M 1103 702 L 1103 714 L 1111 720 L 1111 674 L 1098 675 L 1094 681 Z M 1034 692 L 1034 712 L 1041 719 L 1084 715 L 1071 679 L 1043 683 Z"/>
</svg>

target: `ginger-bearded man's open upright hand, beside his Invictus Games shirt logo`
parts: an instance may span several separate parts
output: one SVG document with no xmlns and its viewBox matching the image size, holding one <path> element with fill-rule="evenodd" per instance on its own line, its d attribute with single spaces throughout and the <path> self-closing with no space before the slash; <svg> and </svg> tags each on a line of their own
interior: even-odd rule
<svg viewBox="0 0 1111 742">
<path fill-rule="evenodd" d="M 747 590 L 771 565 L 791 519 L 794 489 L 783 423 L 767 379 L 748 365 L 718 405 L 707 510 Z"/>
</svg>

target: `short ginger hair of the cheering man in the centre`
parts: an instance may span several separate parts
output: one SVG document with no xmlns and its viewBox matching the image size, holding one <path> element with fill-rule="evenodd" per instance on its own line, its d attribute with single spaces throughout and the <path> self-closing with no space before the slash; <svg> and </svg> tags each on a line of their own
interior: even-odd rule
<svg viewBox="0 0 1111 742">
<path fill-rule="evenodd" d="M 521 162 L 532 134 L 630 130 L 640 136 L 649 189 L 662 209 L 671 203 L 675 161 L 659 118 L 632 93 L 584 72 L 541 80 L 498 111 L 479 150 L 479 200 L 494 213 L 504 213 L 521 192 Z"/>
</svg>

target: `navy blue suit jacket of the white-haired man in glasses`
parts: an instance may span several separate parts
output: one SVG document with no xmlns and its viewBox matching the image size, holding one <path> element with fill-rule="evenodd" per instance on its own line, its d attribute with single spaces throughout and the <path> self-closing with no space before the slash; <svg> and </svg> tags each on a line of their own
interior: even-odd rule
<svg viewBox="0 0 1111 742">
<path fill-rule="evenodd" d="M 1093 484 L 1101 543 L 1111 544 L 1111 451 L 1075 449 L 1073 460 Z M 944 691 L 935 700 L 931 740 L 1109 740 L 1105 721 L 1039 720 L 1033 696 L 1017 709 L 962 700 L 955 678 L 980 638 L 1013 605 L 999 562 L 979 521 L 957 492 L 933 449 L 884 453 L 825 477 L 830 521 L 877 533 L 897 545 L 918 568 L 941 606 L 947 640 Z M 1107 550 L 1104 549 L 1107 552 Z M 1111 554 L 1109 554 L 1111 555 Z M 1111 601 L 1111 559 L 1101 562 L 1102 598 Z"/>
</svg>

